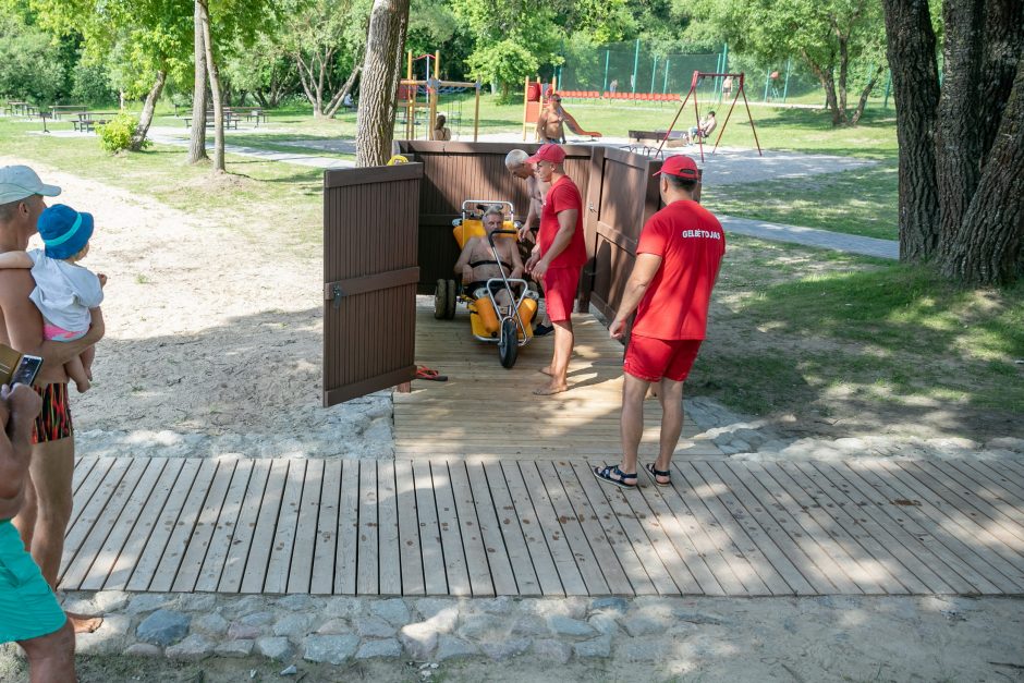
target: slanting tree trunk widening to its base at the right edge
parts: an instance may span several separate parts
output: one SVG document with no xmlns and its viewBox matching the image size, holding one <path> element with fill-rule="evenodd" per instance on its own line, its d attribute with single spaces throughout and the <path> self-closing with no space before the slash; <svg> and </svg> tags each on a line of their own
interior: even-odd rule
<svg viewBox="0 0 1024 683">
<path fill-rule="evenodd" d="M 964 212 L 964 229 L 946 251 L 942 273 L 972 284 L 1022 277 L 1024 242 L 1024 59 L 1003 110 L 985 173 Z"/>
</svg>

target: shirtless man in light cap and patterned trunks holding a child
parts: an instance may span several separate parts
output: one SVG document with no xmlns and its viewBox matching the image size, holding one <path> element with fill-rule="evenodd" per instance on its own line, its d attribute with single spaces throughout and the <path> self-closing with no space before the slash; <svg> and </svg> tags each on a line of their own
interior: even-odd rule
<svg viewBox="0 0 1024 683">
<path fill-rule="evenodd" d="M 46 209 L 45 196 L 60 194 L 60 187 L 46 185 L 25 166 L 0 168 L 0 254 L 24 252 L 36 223 Z M 25 504 L 14 520 L 22 540 L 42 571 L 51 588 L 57 588 L 64 533 L 71 520 L 71 479 L 75 463 L 74 428 L 64 364 L 103 337 L 103 316 L 90 312 L 89 331 L 75 341 L 56 342 L 42 338 L 42 316 L 29 294 L 35 282 L 28 270 L 0 270 L 0 342 L 22 353 L 41 356 L 42 369 L 36 391 L 42 397 L 42 411 L 36 418 L 32 462 L 28 468 Z M 68 614 L 76 632 L 99 627 L 101 619 Z"/>
</svg>

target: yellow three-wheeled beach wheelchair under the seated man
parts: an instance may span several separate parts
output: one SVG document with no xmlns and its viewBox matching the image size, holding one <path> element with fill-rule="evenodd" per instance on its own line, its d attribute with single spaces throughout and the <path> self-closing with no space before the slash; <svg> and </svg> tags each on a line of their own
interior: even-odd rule
<svg viewBox="0 0 1024 683">
<path fill-rule="evenodd" d="M 507 207 L 508 212 L 501 229 L 488 233 L 484 228 L 484 211 L 487 207 L 496 205 Z M 462 203 L 462 217 L 453 220 L 452 227 L 452 234 L 460 249 L 465 247 L 472 237 L 486 237 L 495 263 L 499 265 L 501 257 L 495 240 L 515 240 L 519 234 L 510 202 L 467 199 Z M 526 280 L 509 278 L 504 268 L 500 269 L 501 277 L 475 283 L 472 288 L 466 288 L 455 280 L 438 280 L 434 294 L 434 317 L 450 320 L 455 317 L 456 304 L 465 303 L 470 310 L 473 336 L 483 342 L 497 344 L 501 365 L 511 368 L 515 365 L 519 347 L 525 346 L 533 339 L 532 322 L 537 313 L 539 297 L 528 288 Z M 509 301 L 513 302 L 511 306 L 498 304 L 495 294 L 501 291 L 508 293 Z"/>
</svg>

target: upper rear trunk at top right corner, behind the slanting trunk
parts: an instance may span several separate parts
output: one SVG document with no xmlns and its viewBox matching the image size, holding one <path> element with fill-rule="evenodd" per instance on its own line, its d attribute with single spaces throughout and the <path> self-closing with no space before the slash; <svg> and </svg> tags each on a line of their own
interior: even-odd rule
<svg viewBox="0 0 1024 683">
<path fill-rule="evenodd" d="M 985 2 L 985 53 L 982 57 L 979 120 L 982 162 L 996 142 L 1002 108 L 1010 97 L 1017 60 L 1024 57 L 1024 2 Z"/>
</svg>

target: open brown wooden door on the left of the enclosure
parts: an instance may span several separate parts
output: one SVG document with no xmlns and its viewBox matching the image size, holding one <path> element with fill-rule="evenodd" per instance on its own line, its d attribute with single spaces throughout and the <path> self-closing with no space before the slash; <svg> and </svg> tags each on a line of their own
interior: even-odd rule
<svg viewBox="0 0 1024 683">
<path fill-rule="evenodd" d="M 423 164 L 324 173 L 324 405 L 416 375 Z"/>
</svg>

